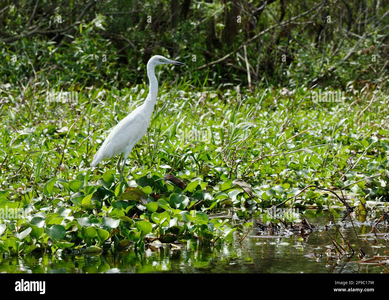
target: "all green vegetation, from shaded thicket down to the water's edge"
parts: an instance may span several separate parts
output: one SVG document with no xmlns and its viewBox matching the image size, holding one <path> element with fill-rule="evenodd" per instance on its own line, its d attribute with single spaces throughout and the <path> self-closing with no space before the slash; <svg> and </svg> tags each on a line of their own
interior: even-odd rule
<svg viewBox="0 0 389 300">
<path fill-rule="evenodd" d="M 36 10 L 29 1 L 2 2 L 0 209 L 23 209 L 28 218 L 1 219 L 0 251 L 214 244 L 237 229 L 217 218 L 221 210 L 281 203 L 323 209 L 338 200 L 315 187 L 300 194 L 310 185 L 361 203 L 387 201 L 388 75 L 379 54 L 387 1 L 379 10 L 374 1 L 361 4 L 358 24 L 347 24 L 344 2 L 269 2 L 258 14 L 261 1 L 98 1 L 80 23 L 85 2 L 40 1 Z M 357 10 L 359 3 L 346 6 Z M 181 5 L 176 21 L 174 4 Z M 246 20 L 236 32 L 223 22 L 234 14 Z M 65 23 L 56 23 L 58 16 Z M 243 44 L 272 26 L 247 44 L 247 72 Z M 45 32 L 13 40 L 37 28 Z M 120 182 L 114 160 L 88 166 L 107 130 L 144 101 L 152 54 L 188 66 L 157 70 L 149 131 L 130 154 L 128 181 Z M 77 91 L 78 102 L 47 103 L 52 89 Z M 315 103 L 319 89 L 345 92 L 344 105 Z"/>
</svg>

